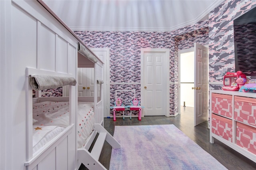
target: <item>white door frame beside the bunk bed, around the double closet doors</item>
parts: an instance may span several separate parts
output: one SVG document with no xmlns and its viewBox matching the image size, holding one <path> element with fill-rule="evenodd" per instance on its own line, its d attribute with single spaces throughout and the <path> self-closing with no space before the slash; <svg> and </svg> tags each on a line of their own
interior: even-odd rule
<svg viewBox="0 0 256 170">
<path fill-rule="evenodd" d="M 103 59 L 103 74 L 106 73 L 105 75 L 107 76 L 103 76 L 103 81 L 104 83 L 102 84 L 102 88 L 103 88 L 103 105 L 104 108 L 103 111 L 103 115 L 104 117 L 110 117 L 110 64 L 109 64 L 109 60 L 110 60 L 110 48 L 90 48 L 90 50 L 92 50 L 92 52 L 94 51 L 106 51 L 107 56 L 106 59 Z"/>
</svg>

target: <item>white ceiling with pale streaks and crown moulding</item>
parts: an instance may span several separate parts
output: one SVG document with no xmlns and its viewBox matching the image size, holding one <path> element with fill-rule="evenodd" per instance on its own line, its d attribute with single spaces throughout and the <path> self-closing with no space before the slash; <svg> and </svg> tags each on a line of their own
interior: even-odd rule
<svg viewBox="0 0 256 170">
<path fill-rule="evenodd" d="M 208 18 L 222 0 L 44 0 L 72 30 L 172 31 Z"/>
</svg>

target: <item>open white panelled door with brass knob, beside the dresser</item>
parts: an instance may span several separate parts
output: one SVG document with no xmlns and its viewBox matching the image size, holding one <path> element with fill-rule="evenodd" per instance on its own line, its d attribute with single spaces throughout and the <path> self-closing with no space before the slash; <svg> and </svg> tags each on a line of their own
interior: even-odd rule
<svg viewBox="0 0 256 170">
<path fill-rule="evenodd" d="M 208 47 L 194 44 L 194 126 L 208 120 Z"/>
</svg>

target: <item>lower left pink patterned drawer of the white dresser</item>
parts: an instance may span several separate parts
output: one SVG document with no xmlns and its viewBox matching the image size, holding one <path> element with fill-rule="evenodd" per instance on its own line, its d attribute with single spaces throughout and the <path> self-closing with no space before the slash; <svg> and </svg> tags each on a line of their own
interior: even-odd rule
<svg viewBox="0 0 256 170">
<path fill-rule="evenodd" d="M 232 120 L 212 113 L 212 133 L 233 142 Z"/>
</svg>

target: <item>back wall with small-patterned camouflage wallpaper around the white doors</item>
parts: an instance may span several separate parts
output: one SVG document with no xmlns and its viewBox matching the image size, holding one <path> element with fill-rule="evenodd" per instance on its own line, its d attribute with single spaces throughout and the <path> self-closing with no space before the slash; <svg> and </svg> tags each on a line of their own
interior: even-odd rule
<svg viewBox="0 0 256 170">
<path fill-rule="evenodd" d="M 198 22 L 174 32 L 75 31 L 75 33 L 90 48 L 110 48 L 112 105 L 115 101 L 115 91 L 118 89 L 136 89 L 136 96 L 140 100 L 140 49 L 169 48 L 170 115 L 174 115 L 178 112 L 178 49 L 193 47 L 194 42 L 208 44 L 208 21 Z M 122 98 L 126 96 L 123 95 Z"/>
</svg>

